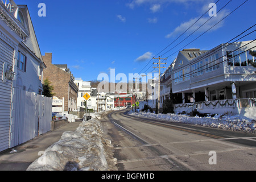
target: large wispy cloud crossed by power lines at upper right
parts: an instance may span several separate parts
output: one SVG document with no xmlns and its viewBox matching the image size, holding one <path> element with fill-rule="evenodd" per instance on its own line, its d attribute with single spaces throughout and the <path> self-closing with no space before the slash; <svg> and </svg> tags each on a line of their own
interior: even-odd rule
<svg viewBox="0 0 256 182">
<path fill-rule="evenodd" d="M 210 17 L 208 14 L 205 15 L 205 17 L 201 18 L 198 22 L 196 22 L 199 17 L 193 18 L 188 20 L 187 22 L 181 23 L 180 26 L 176 27 L 174 31 L 170 32 L 170 34 L 166 35 L 166 38 L 171 38 L 174 36 L 177 36 L 181 33 L 183 33 L 185 30 L 187 30 L 193 23 L 195 23 L 189 30 L 186 32 L 187 34 L 191 34 L 192 32 L 196 31 L 197 28 L 199 28 L 201 25 L 203 25 L 205 22 L 207 22 L 208 19 L 210 19 L 207 23 L 205 23 L 202 27 L 200 27 L 196 32 L 202 33 L 207 31 L 209 28 L 214 26 L 214 24 L 220 22 L 221 19 L 223 19 L 226 15 L 228 15 L 228 10 L 222 10 L 220 13 L 217 14 L 216 17 Z M 217 30 L 218 28 L 221 28 L 224 26 L 224 20 L 222 20 L 220 23 L 216 24 L 213 28 L 210 29 L 210 31 Z"/>
</svg>

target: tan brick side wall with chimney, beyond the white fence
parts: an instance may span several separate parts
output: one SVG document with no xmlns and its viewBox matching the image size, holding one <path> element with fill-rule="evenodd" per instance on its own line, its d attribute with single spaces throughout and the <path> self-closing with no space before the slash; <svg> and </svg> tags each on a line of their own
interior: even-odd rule
<svg viewBox="0 0 256 182">
<path fill-rule="evenodd" d="M 62 99 L 63 97 L 65 98 L 64 111 L 71 110 L 68 107 L 69 98 L 72 96 L 75 98 L 75 101 L 77 100 L 76 88 L 68 89 L 69 81 L 71 81 L 71 73 L 65 72 L 59 67 L 56 67 L 56 65 L 52 64 L 52 53 L 45 53 L 45 55 L 42 57 L 44 63 L 47 66 L 47 68 L 43 70 L 43 81 L 48 78 L 48 80 L 51 82 L 51 85 L 54 86 L 54 96 L 58 97 L 59 99 Z M 71 92 L 71 90 L 73 91 Z"/>
</svg>

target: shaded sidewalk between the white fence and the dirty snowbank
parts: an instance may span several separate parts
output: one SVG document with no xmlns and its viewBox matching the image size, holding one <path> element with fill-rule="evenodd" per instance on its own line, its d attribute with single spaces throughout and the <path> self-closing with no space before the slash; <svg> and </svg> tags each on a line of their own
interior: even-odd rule
<svg viewBox="0 0 256 182">
<path fill-rule="evenodd" d="M 7 150 L 0 154 L 0 171 L 26 171 L 28 166 L 40 156 L 39 151 L 44 151 L 53 143 L 60 140 L 65 131 L 75 131 L 79 127 L 81 120 L 68 123 L 55 131 L 39 135 L 30 141 L 14 147 L 17 152 L 10 153 Z"/>
</svg>

